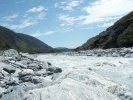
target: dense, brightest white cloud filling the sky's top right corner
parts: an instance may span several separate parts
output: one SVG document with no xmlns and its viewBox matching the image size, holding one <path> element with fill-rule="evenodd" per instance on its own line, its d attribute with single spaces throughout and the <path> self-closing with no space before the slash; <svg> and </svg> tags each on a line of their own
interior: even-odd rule
<svg viewBox="0 0 133 100">
<path fill-rule="evenodd" d="M 84 8 L 83 24 L 117 20 L 133 10 L 133 0 L 95 0 Z"/>
</svg>

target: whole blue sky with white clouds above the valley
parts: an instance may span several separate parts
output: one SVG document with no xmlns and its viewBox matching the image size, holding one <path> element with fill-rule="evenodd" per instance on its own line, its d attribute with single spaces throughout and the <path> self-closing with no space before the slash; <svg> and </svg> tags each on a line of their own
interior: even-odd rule
<svg viewBox="0 0 133 100">
<path fill-rule="evenodd" d="M 76 48 L 133 11 L 133 0 L 0 0 L 0 25 Z"/>
</svg>

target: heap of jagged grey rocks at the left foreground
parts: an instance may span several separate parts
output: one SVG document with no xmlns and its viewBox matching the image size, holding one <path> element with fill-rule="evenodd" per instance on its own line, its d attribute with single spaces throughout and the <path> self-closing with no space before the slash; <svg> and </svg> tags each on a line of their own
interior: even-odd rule
<svg viewBox="0 0 133 100">
<path fill-rule="evenodd" d="M 47 77 L 62 72 L 49 62 L 13 49 L 1 53 L 0 65 L 0 100 L 22 100 L 26 91 L 50 85 Z"/>
</svg>

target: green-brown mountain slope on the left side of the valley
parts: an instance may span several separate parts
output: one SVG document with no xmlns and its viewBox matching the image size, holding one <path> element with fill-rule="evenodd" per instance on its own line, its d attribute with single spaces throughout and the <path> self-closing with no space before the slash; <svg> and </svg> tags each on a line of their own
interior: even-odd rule
<svg viewBox="0 0 133 100">
<path fill-rule="evenodd" d="M 16 49 L 28 53 L 53 52 L 53 48 L 36 39 L 35 37 L 15 33 L 14 31 L 0 26 L 0 50 Z"/>
</svg>

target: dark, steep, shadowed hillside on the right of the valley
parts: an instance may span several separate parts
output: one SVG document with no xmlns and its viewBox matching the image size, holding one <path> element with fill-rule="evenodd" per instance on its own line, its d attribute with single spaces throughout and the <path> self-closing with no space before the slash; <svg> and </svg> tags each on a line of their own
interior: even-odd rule
<svg viewBox="0 0 133 100">
<path fill-rule="evenodd" d="M 133 47 L 133 12 L 121 18 L 106 31 L 89 39 L 76 50 L 119 47 Z"/>
</svg>

